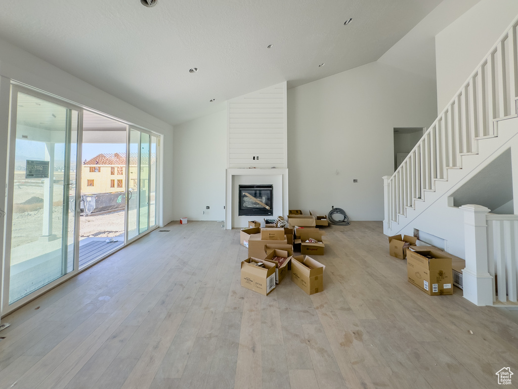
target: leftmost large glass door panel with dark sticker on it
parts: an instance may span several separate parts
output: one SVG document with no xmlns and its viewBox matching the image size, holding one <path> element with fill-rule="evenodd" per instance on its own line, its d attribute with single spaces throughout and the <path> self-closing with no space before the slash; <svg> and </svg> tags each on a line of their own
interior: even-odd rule
<svg viewBox="0 0 518 389">
<path fill-rule="evenodd" d="M 9 304 L 74 270 L 76 110 L 14 90 Z M 11 145 L 12 150 L 12 145 Z"/>
</svg>

